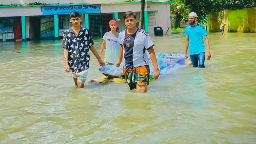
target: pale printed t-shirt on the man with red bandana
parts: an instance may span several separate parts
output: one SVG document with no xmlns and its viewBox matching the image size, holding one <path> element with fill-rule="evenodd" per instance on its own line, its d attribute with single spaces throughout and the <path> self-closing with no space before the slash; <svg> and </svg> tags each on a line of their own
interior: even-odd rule
<svg viewBox="0 0 256 144">
<path fill-rule="evenodd" d="M 105 62 L 114 64 L 118 61 L 120 48 L 118 34 L 119 33 L 113 34 L 111 32 L 106 32 L 102 38 L 106 41 Z"/>
</svg>

